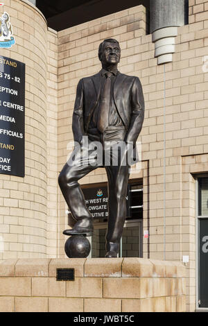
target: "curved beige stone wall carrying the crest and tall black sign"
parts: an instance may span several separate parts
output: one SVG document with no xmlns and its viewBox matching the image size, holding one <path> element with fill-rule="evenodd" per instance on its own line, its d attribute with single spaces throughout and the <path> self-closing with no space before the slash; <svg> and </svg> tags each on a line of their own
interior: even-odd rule
<svg viewBox="0 0 208 326">
<path fill-rule="evenodd" d="M 4 0 L 16 44 L 1 55 L 26 64 L 25 177 L 0 175 L 0 259 L 46 255 L 47 26 L 29 1 Z"/>
</svg>

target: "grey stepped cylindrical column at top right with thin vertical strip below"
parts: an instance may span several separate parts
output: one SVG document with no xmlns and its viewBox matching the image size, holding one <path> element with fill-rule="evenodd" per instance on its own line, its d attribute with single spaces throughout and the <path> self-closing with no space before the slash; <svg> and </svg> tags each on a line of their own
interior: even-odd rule
<svg viewBox="0 0 208 326">
<path fill-rule="evenodd" d="M 164 260 L 166 259 L 166 69 L 173 61 L 177 26 L 188 24 L 187 0 L 150 0 L 150 33 L 155 43 L 157 64 L 164 64 Z M 187 15 L 187 16 L 186 16 Z"/>
</svg>

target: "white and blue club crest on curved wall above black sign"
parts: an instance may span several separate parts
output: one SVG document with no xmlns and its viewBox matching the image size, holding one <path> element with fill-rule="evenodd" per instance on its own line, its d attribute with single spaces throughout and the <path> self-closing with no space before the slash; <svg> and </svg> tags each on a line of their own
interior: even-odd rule
<svg viewBox="0 0 208 326">
<path fill-rule="evenodd" d="M 0 17 L 0 47 L 10 48 L 15 44 L 15 37 L 12 36 L 12 24 L 7 12 L 3 12 Z"/>
</svg>

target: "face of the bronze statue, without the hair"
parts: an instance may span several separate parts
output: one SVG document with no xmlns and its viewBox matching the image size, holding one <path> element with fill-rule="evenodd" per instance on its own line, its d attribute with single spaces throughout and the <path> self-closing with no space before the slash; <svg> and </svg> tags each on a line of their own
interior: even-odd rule
<svg viewBox="0 0 208 326">
<path fill-rule="evenodd" d="M 121 49 L 119 44 L 114 42 L 105 42 L 101 54 L 101 62 L 103 65 L 116 65 L 120 61 Z"/>
</svg>

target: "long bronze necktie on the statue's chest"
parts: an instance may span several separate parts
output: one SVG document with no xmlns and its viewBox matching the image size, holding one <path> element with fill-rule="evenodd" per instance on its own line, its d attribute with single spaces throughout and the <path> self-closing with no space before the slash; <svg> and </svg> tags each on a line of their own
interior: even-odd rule
<svg viewBox="0 0 208 326">
<path fill-rule="evenodd" d="M 110 90 L 111 90 L 111 72 L 105 73 L 106 80 L 103 86 L 103 96 L 101 97 L 101 104 L 98 112 L 98 123 L 97 128 L 101 132 L 108 126 L 108 116 L 110 109 Z"/>
</svg>

